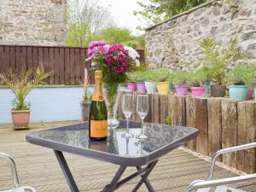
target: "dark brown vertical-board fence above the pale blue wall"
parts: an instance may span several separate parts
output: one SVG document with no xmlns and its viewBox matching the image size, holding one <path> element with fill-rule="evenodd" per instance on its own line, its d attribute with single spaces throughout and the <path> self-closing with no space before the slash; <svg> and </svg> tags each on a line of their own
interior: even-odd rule
<svg viewBox="0 0 256 192">
<path fill-rule="evenodd" d="M 141 62 L 145 61 L 144 50 L 137 50 Z M 87 49 L 68 47 L 38 47 L 0 45 L 0 73 L 8 68 L 20 72 L 43 64 L 45 71 L 52 72 L 47 84 L 80 84 L 84 79 L 84 67 Z M 93 74 L 90 73 L 93 82 Z"/>
</svg>

